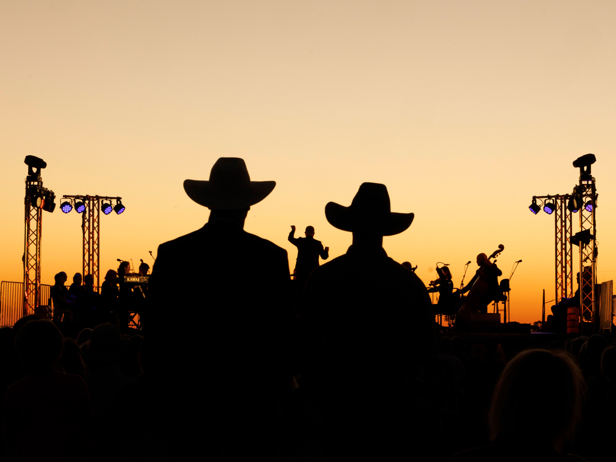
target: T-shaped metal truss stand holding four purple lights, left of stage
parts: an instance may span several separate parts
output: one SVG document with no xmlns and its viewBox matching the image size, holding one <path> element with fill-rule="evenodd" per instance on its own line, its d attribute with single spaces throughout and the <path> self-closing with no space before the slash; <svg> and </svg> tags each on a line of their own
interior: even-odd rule
<svg viewBox="0 0 616 462">
<path fill-rule="evenodd" d="M 62 198 L 83 202 L 84 210 L 81 212 L 81 230 L 83 232 L 82 268 L 83 277 L 91 274 L 94 277 L 94 286 L 100 288 L 100 203 L 104 200 L 115 200 L 121 203 L 121 197 L 64 195 Z"/>
</svg>

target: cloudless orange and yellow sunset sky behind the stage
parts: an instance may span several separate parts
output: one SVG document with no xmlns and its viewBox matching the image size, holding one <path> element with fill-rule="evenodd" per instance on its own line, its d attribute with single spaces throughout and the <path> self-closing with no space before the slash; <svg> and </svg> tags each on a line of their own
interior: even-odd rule
<svg viewBox="0 0 616 462">
<path fill-rule="evenodd" d="M 554 298 L 554 219 L 528 206 L 570 193 L 586 153 L 598 281 L 616 277 L 615 24 L 616 2 L 593 0 L 4 0 L 0 280 L 22 280 L 26 155 L 47 162 L 57 197 L 46 284 L 81 272 L 81 217 L 60 212 L 62 195 L 123 198 L 124 214 L 101 218 L 101 275 L 117 258 L 152 265 L 148 251 L 207 221 L 182 182 L 233 156 L 277 182 L 245 229 L 287 249 L 291 270 L 290 225 L 313 225 L 339 256 L 351 233 L 325 204 L 383 183 L 392 211 L 415 213 L 384 238 L 389 256 L 426 285 L 449 263 L 459 286 L 464 264 L 468 282 L 477 253 L 502 243 L 503 277 L 522 259 L 511 320 L 539 320 L 541 291 Z"/>
</svg>

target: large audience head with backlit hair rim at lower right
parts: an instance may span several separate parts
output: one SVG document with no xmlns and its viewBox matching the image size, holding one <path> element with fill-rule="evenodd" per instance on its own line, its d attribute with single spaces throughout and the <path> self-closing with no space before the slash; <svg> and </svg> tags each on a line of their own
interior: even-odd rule
<svg viewBox="0 0 616 462">
<path fill-rule="evenodd" d="M 488 418 L 490 438 L 521 445 L 547 438 L 559 450 L 580 421 L 583 391 L 582 373 L 565 352 L 521 352 L 496 384 Z"/>
</svg>

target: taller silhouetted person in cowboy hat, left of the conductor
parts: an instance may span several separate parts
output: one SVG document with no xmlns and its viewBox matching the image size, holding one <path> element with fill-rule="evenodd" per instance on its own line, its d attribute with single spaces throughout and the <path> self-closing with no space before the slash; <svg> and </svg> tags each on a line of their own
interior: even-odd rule
<svg viewBox="0 0 616 462">
<path fill-rule="evenodd" d="M 158 247 L 144 328 L 148 337 L 190 326 L 177 387 L 180 440 L 192 457 L 269 458 L 275 401 L 293 378 L 295 317 L 285 249 L 243 230 L 248 210 L 274 189 L 251 181 L 243 159 L 219 158 L 209 181 L 185 180 L 207 224 Z M 243 273 L 237 273 L 241 262 Z M 164 341 L 164 340 L 161 340 Z M 199 418 L 195 421 L 195 416 Z M 172 444 L 173 445 L 173 444 Z"/>
</svg>

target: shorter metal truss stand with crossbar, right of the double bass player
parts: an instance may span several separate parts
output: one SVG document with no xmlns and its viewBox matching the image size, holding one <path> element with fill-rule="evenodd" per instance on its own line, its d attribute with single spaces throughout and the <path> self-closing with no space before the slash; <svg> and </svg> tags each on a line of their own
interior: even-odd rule
<svg viewBox="0 0 616 462">
<path fill-rule="evenodd" d="M 554 204 L 554 256 L 556 262 L 556 283 L 554 284 L 556 302 L 563 297 L 573 296 L 573 245 L 571 237 L 573 232 L 573 214 L 567 208 L 571 195 L 556 194 L 549 196 L 533 196 L 534 200 L 546 203 L 548 200 Z"/>
</svg>

